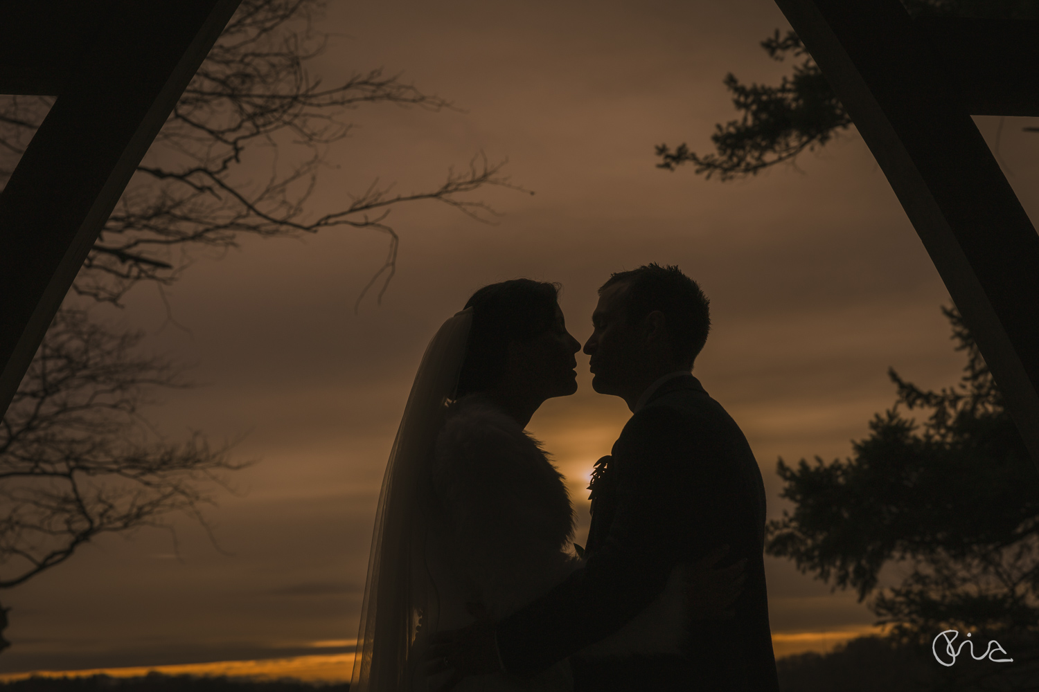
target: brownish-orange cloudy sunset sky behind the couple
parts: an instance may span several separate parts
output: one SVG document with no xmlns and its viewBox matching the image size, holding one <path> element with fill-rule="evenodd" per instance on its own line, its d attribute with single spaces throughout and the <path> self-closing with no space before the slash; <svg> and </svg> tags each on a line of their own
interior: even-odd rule
<svg viewBox="0 0 1039 692">
<path fill-rule="evenodd" d="M 102 536 L 4 593 L 14 645 L 0 672 L 277 659 L 287 662 L 236 665 L 348 676 L 411 378 L 441 323 L 489 282 L 561 282 L 583 342 L 610 272 L 658 261 L 699 281 L 714 329 L 694 375 L 750 441 L 770 518 L 789 506 L 776 460 L 848 455 L 895 400 L 888 366 L 924 387 L 954 383 L 962 358 L 939 311 L 948 293 L 854 129 L 796 167 L 742 182 L 655 168 L 661 142 L 710 150 L 715 122 L 735 117 L 726 73 L 775 83 L 789 71 L 758 47 L 776 28 L 788 25 L 771 0 L 330 0 L 316 29 L 335 35 L 316 76 L 330 84 L 382 66 L 460 110 L 355 111 L 352 136 L 328 154 L 315 215 L 375 178 L 404 193 L 436 187 L 480 151 L 508 159 L 512 183 L 535 194 L 472 195 L 501 214 L 496 225 L 432 202 L 394 209 L 397 275 L 382 304 L 366 298 L 356 315 L 387 250 L 367 230 L 243 237 L 240 250 L 198 253 L 166 289 L 176 324 L 151 285 L 125 310 L 95 309 L 146 330 L 145 349 L 195 364 L 198 386 L 148 411 L 170 439 L 241 438 L 236 458 L 258 463 L 234 475 L 234 494 L 215 492 L 219 550 L 178 518 L 179 557 L 165 531 Z M 1001 119 L 977 121 L 994 145 Z M 1021 127 L 1036 123 L 1006 118 L 998 146 L 1033 219 L 1039 134 Z M 548 402 L 529 430 L 568 479 L 583 543 L 591 464 L 630 413 L 591 390 L 587 356 L 578 363 L 578 393 Z M 872 624 L 853 594 L 785 560 L 766 569 L 777 654 Z"/>
</svg>

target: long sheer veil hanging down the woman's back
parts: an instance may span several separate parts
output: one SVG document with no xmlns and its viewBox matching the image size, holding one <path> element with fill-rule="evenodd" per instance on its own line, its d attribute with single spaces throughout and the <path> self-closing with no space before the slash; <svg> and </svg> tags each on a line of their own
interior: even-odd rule
<svg viewBox="0 0 1039 692">
<path fill-rule="evenodd" d="M 427 462 L 455 393 L 472 323 L 472 308 L 444 323 L 407 397 L 375 511 L 350 692 L 408 689 L 420 663 L 416 653 L 424 648 L 412 644 L 435 628 L 436 594 L 424 558 Z"/>
</svg>

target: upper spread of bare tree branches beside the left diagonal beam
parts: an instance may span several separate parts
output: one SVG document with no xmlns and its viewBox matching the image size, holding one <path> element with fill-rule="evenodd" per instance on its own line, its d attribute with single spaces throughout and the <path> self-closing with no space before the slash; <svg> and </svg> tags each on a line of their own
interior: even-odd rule
<svg viewBox="0 0 1039 692">
<path fill-rule="evenodd" d="M 314 30 L 323 0 L 244 0 L 138 167 L 84 264 L 75 290 L 118 303 L 141 280 L 168 284 L 202 246 L 236 245 L 238 233 L 297 236 L 326 228 L 368 228 L 389 239 L 379 277 L 393 276 L 399 238 L 388 225 L 394 205 L 437 201 L 478 219 L 494 212 L 465 198 L 483 186 L 518 189 L 502 163 L 475 157 L 449 168 L 430 189 L 391 194 L 374 181 L 341 209 L 313 214 L 309 205 L 329 145 L 346 138 L 347 115 L 388 103 L 429 111 L 453 106 L 380 70 L 335 86 L 314 79 L 308 63 L 327 36 Z M 25 149 L 52 100 L 7 98 L 0 108 L 0 176 Z M 266 178 L 251 178 L 263 163 Z M 286 166 L 281 162 L 289 161 Z M 381 294 L 380 294 L 381 295 Z"/>
</svg>

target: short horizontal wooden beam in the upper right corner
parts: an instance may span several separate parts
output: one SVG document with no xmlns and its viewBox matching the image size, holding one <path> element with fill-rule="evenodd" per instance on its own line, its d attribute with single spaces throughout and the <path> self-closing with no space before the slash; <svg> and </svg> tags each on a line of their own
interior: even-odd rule
<svg viewBox="0 0 1039 692">
<path fill-rule="evenodd" d="M 1039 115 L 1039 20 L 920 17 L 914 24 L 975 115 Z"/>
</svg>

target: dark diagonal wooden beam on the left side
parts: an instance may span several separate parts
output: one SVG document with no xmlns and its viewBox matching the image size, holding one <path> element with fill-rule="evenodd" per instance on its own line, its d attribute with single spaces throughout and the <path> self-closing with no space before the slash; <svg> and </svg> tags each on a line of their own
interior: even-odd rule
<svg viewBox="0 0 1039 692">
<path fill-rule="evenodd" d="M 0 194 L 0 415 L 130 176 L 239 2 L 119 0 L 68 73 Z"/>
</svg>

